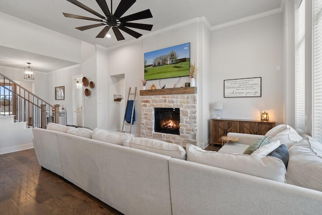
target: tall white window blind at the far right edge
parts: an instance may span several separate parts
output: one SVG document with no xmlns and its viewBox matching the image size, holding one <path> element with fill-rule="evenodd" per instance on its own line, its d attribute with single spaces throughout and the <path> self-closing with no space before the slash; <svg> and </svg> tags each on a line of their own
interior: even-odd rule
<svg viewBox="0 0 322 215">
<path fill-rule="evenodd" d="M 322 142 L 322 1 L 313 1 L 313 137 Z"/>
</svg>

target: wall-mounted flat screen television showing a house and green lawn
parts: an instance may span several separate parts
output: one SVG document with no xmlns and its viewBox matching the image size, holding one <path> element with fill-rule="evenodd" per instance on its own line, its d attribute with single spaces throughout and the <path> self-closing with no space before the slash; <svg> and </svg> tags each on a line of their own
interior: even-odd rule
<svg viewBox="0 0 322 215">
<path fill-rule="evenodd" d="M 189 76 L 190 43 L 144 53 L 144 79 Z"/>
</svg>

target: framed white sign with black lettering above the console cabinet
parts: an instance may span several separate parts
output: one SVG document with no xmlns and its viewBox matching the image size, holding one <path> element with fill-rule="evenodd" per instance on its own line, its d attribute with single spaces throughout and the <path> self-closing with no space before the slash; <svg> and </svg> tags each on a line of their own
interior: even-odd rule
<svg viewBox="0 0 322 215">
<path fill-rule="evenodd" d="M 223 97 L 261 97 L 262 77 L 223 81 Z"/>
</svg>

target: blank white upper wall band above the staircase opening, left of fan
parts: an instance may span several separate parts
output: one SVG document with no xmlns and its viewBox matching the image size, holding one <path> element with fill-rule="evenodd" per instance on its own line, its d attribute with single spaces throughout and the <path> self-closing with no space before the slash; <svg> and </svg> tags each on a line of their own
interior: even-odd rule
<svg viewBox="0 0 322 215">
<path fill-rule="evenodd" d="M 0 13 L 0 45 L 81 62 L 81 40 Z"/>
</svg>

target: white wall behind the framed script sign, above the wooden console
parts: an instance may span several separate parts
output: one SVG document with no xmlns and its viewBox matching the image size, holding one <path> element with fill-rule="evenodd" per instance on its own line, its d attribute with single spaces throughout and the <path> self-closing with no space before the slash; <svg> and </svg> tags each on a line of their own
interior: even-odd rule
<svg viewBox="0 0 322 215">
<path fill-rule="evenodd" d="M 283 14 L 278 13 L 211 32 L 209 102 L 223 102 L 222 118 L 283 123 Z M 276 66 L 281 65 L 281 70 Z M 223 98 L 223 80 L 262 77 L 262 97 Z"/>
</svg>

